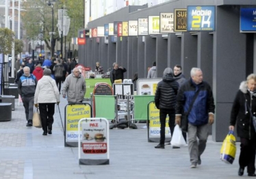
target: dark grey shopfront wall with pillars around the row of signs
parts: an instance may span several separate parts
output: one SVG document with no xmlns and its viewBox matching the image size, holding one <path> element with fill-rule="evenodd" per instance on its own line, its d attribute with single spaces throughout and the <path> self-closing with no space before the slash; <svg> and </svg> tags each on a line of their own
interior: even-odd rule
<svg viewBox="0 0 256 179">
<path fill-rule="evenodd" d="M 88 23 L 88 28 L 103 26 L 114 21 L 137 20 L 158 15 L 159 12 L 173 12 L 175 8 L 187 5 L 216 5 L 216 31 L 198 33 L 170 33 L 168 36 L 138 36 L 118 38 L 108 44 L 105 38 L 89 38 L 85 46 L 79 46 L 79 62 L 94 69 L 100 61 L 104 70 L 117 61 L 127 68 L 125 78 L 132 79 L 147 75 L 147 68 L 157 61 L 157 76 L 162 77 L 166 67 L 181 64 L 185 77 L 190 77 L 192 67 L 203 70 L 214 92 L 216 103 L 216 122 L 212 126 L 214 141 L 222 141 L 228 133 L 230 111 L 240 83 L 253 73 L 255 64 L 255 33 L 240 33 L 240 7 L 256 7 L 255 0 L 178 0 L 156 5 L 133 7 L 140 9 L 131 12 L 131 6 L 103 16 Z"/>
</svg>

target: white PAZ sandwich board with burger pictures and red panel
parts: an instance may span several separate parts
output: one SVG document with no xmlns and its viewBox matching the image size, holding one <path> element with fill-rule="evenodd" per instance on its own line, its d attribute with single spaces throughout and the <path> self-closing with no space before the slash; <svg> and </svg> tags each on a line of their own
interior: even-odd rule
<svg viewBox="0 0 256 179">
<path fill-rule="evenodd" d="M 109 123 L 105 118 L 79 120 L 78 159 L 79 165 L 110 164 Z"/>
</svg>

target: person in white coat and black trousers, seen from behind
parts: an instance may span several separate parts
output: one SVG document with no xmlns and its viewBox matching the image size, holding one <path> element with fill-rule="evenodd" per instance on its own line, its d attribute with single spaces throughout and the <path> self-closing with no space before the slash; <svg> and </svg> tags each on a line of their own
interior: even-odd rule
<svg viewBox="0 0 256 179">
<path fill-rule="evenodd" d="M 44 76 L 36 85 L 34 98 L 35 107 L 39 106 L 40 118 L 42 122 L 42 135 L 51 134 L 53 128 L 53 114 L 55 103 L 60 103 L 60 92 L 57 89 L 55 80 L 51 78 L 51 70 L 44 69 Z"/>
</svg>

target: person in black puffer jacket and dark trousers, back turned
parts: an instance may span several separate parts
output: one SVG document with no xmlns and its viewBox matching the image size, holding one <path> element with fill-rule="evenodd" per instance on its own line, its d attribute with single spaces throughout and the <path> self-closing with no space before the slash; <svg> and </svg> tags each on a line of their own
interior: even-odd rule
<svg viewBox="0 0 256 179">
<path fill-rule="evenodd" d="M 155 92 L 155 106 L 160 110 L 160 142 L 155 148 L 164 148 L 166 115 L 169 115 L 170 133 L 173 134 L 175 128 L 175 105 L 179 83 L 173 79 L 172 68 L 164 70 L 163 80 L 157 84 Z"/>
</svg>

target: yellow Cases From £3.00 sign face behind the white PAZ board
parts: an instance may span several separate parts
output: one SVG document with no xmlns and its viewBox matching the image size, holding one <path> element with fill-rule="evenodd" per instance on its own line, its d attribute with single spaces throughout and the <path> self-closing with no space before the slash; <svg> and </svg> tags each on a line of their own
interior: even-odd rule
<svg viewBox="0 0 256 179">
<path fill-rule="evenodd" d="M 68 105 L 66 107 L 66 134 L 68 138 L 71 131 L 78 131 L 78 122 L 81 118 L 91 118 L 91 107 L 85 104 Z M 76 137 L 75 137 L 76 138 Z M 78 136 L 77 136 L 78 139 Z"/>
</svg>

